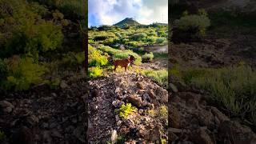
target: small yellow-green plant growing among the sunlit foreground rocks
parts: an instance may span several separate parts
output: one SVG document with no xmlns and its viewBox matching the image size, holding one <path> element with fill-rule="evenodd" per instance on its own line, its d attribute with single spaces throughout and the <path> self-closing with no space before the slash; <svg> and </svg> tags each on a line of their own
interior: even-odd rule
<svg viewBox="0 0 256 144">
<path fill-rule="evenodd" d="M 122 104 L 122 106 L 116 110 L 120 118 L 126 119 L 129 114 L 137 111 L 136 107 L 132 106 L 130 103 Z"/>
</svg>

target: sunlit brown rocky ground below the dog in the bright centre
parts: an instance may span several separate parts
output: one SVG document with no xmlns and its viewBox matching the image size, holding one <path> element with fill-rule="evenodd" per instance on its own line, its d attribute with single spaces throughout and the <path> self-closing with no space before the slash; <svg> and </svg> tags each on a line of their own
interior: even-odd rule
<svg viewBox="0 0 256 144">
<path fill-rule="evenodd" d="M 150 78 L 131 71 L 110 73 L 106 78 L 90 80 L 89 86 L 89 143 L 116 142 L 120 136 L 122 142 L 167 140 L 167 122 L 148 114 L 148 110 L 166 105 L 168 93 Z M 137 108 L 126 119 L 115 113 L 124 103 Z"/>
</svg>

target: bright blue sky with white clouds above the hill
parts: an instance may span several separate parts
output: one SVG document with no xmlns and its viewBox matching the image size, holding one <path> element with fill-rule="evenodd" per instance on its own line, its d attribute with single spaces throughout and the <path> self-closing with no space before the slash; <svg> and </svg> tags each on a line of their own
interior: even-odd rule
<svg viewBox="0 0 256 144">
<path fill-rule="evenodd" d="M 168 22 L 168 0 L 88 0 L 89 26 L 113 25 L 124 18 L 142 24 Z"/>
</svg>

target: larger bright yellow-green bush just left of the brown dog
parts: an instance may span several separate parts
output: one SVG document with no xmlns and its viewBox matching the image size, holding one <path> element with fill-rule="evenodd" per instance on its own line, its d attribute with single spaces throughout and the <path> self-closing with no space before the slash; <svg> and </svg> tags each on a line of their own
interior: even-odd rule
<svg viewBox="0 0 256 144">
<path fill-rule="evenodd" d="M 88 64 L 89 66 L 105 66 L 108 63 L 107 55 L 102 55 L 102 52 L 96 50 L 93 46 L 89 46 Z"/>
</svg>

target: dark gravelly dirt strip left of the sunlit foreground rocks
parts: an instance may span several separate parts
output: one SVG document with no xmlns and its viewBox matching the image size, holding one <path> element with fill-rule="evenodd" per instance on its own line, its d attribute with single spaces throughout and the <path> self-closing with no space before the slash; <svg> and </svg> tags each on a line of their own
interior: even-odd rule
<svg viewBox="0 0 256 144">
<path fill-rule="evenodd" d="M 116 129 L 114 109 L 114 80 L 102 78 L 89 82 L 89 128 L 90 143 L 106 143 L 110 141 L 111 131 Z"/>
</svg>

